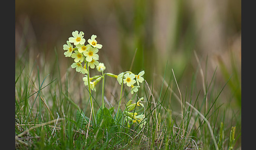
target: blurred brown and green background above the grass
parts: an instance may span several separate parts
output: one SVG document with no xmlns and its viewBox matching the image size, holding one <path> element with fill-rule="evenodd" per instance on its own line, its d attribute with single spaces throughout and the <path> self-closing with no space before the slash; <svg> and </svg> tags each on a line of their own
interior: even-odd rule
<svg viewBox="0 0 256 150">
<path fill-rule="evenodd" d="M 15 1 L 16 59 L 28 51 L 43 64 L 57 54 L 62 77 L 73 61 L 63 45 L 75 30 L 86 40 L 97 35 L 107 72 L 145 70 L 157 86 L 164 72 L 169 82 L 173 69 L 183 92 L 199 67 L 196 53 L 205 83 L 215 70 L 220 88 L 232 75 L 224 100 L 241 106 L 241 0 Z"/>
</svg>

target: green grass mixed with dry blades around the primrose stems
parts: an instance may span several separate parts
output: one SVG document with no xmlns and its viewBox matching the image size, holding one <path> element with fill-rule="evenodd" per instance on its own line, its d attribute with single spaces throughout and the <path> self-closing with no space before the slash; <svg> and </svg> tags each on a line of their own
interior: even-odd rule
<svg viewBox="0 0 256 150">
<path fill-rule="evenodd" d="M 92 94 L 95 125 L 90 116 L 88 89 L 80 73 L 67 67 L 63 75 L 56 50 L 55 57 L 47 62 L 43 56 L 27 58 L 31 57 L 25 51 L 15 63 L 16 149 L 241 148 L 241 109 L 232 109 L 222 97 L 223 91 L 230 88 L 234 93 L 228 101 L 238 101 L 241 90 L 232 88 L 238 80 L 230 83 L 230 76 L 220 84 L 216 70 L 213 74 L 203 73 L 199 59 L 186 89 L 180 89 L 180 80 L 176 79 L 181 77 L 176 77 L 168 65 L 162 76 L 143 82 L 137 95 L 131 97 L 124 87 L 121 112 L 130 99 L 136 102 L 144 97 L 147 123 L 140 128 L 115 120 L 120 86 L 112 93 L 114 100 L 105 101 L 104 109 L 101 86 Z M 210 83 L 206 76 L 211 76 Z M 106 88 L 112 91 L 117 81 L 105 77 Z"/>
</svg>

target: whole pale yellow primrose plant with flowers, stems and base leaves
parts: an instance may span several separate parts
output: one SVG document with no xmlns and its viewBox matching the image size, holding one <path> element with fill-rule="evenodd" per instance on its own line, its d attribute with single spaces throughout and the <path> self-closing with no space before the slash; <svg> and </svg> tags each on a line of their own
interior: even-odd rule
<svg viewBox="0 0 256 150">
<path fill-rule="evenodd" d="M 122 91 L 123 85 L 126 84 L 127 87 L 130 87 L 131 94 L 136 93 L 139 91 L 140 83 L 144 81 L 143 75 L 144 71 L 139 72 L 138 74 L 134 74 L 131 71 L 124 71 L 118 75 L 113 73 L 104 72 L 106 67 L 104 63 L 99 62 L 99 49 L 102 49 L 102 45 L 97 43 L 96 35 L 92 35 L 90 39 L 87 40 L 88 44 L 86 44 L 86 40 L 84 39 L 83 31 L 78 32 L 73 31 L 72 36 L 68 38 L 66 44 L 63 45 L 63 49 L 65 50 L 64 55 L 65 57 L 74 58 L 74 62 L 72 63 L 71 67 L 74 68 L 77 72 L 84 74 L 83 81 L 86 87 L 88 87 L 88 94 L 90 98 L 90 106 L 92 112 L 92 124 L 101 126 L 104 124 L 104 117 L 108 116 L 109 118 L 106 120 L 112 120 L 112 123 L 105 123 L 105 125 L 126 125 L 130 127 L 131 124 L 136 123 L 143 128 L 146 123 L 145 118 L 145 110 L 142 114 L 137 114 L 135 112 L 136 107 L 142 107 L 144 109 L 144 105 L 142 103 L 143 97 L 137 100 L 135 103 L 132 103 L 133 100 L 128 101 L 125 104 L 125 110 L 120 110 L 121 100 L 122 100 Z M 100 73 L 90 77 L 90 68 L 97 69 Z M 118 108 L 114 117 L 112 115 L 106 115 L 113 113 L 114 108 L 106 109 L 104 106 L 104 78 L 106 76 L 115 78 L 117 82 L 121 85 L 120 88 L 120 100 L 118 104 Z M 94 107 L 93 107 L 93 100 L 92 100 L 92 92 L 96 91 L 96 85 L 102 80 L 102 107 L 97 111 L 95 115 Z M 108 113 L 110 112 L 110 113 Z M 103 115 L 104 114 L 104 115 Z"/>
</svg>

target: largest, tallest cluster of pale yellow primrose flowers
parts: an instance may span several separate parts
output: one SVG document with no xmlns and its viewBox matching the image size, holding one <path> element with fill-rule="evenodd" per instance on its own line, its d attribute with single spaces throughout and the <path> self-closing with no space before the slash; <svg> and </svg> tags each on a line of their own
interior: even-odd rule
<svg viewBox="0 0 256 150">
<path fill-rule="evenodd" d="M 83 31 L 79 33 L 77 30 L 73 31 L 72 36 L 66 41 L 67 44 L 63 45 L 63 49 L 66 50 L 64 55 L 65 57 L 74 58 L 74 63 L 71 65 L 72 68 L 75 68 L 77 72 L 87 74 L 86 63 L 92 69 L 99 65 L 97 52 L 102 48 L 102 45 L 97 44 L 96 35 L 92 35 L 91 39 L 87 40 L 88 44 L 86 45 Z"/>
</svg>

